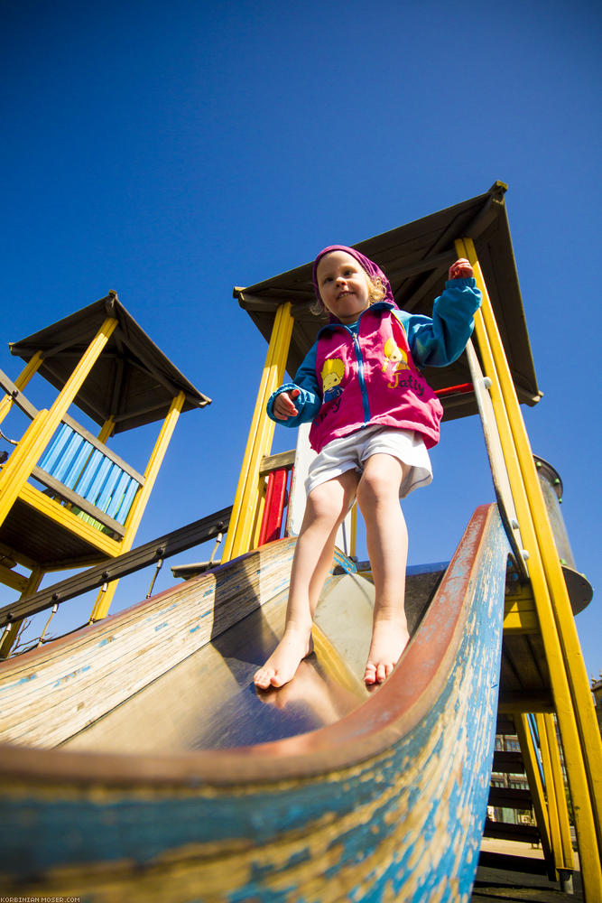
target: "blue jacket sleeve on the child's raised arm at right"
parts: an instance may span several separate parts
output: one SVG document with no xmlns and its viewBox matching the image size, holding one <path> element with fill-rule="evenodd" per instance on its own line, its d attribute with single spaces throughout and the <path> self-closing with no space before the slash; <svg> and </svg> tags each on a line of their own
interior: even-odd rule
<svg viewBox="0 0 602 903">
<path fill-rule="evenodd" d="M 481 293 L 474 278 L 449 279 L 435 301 L 432 318 L 402 312 L 414 363 L 418 367 L 445 367 L 459 358 L 475 328 L 474 314 Z"/>
</svg>

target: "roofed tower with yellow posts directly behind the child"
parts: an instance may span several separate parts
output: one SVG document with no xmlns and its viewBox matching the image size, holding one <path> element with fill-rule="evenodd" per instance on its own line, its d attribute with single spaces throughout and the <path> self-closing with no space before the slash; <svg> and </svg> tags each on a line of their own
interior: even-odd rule
<svg viewBox="0 0 602 903">
<path fill-rule="evenodd" d="M 537 404 L 541 393 L 514 265 L 505 191 L 505 184 L 495 182 L 484 195 L 355 247 L 384 269 L 395 301 L 412 313 L 431 314 L 432 298 L 457 257 L 468 257 L 474 267 L 483 293 L 475 347 L 469 342 L 467 354 L 451 367 L 427 368 L 427 378 L 444 405 L 444 419 L 477 413 L 481 417 L 514 577 L 506 601 L 499 712 L 514 718 L 531 776 L 543 848 L 551 873 L 562 877 L 570 876 L 574 863 L 566 800 L 558 781 L 557 735 L 550 721 L 555 716 L 581 869 L 588 899 L 597 900 L 602 899 L 602 748 L 573 617 L 588 603 L 591 587 L 563 557 L 561 518 L 555 517 L 549 498 L 546 505 L 546 480 L 538 479 L 520 410 L 521 404 Z M 271 461 L 274 467 L 279 464 L 270 455 L 274 424 L 264 417 L 265 405 L 284 381 L 284 372 L 294 375 L 321 325 L 310 313 L 310 263 L 262 283 L 235 288 L 234 294 L 269 348 L 224 560 L 257 545 L 260 525 L 266 517 L 274 518 L 269 510 L 265 514 L 271 505 L 264 474 Z M 298 460 L 299 449 L 294 462 Z M 511 674 L 521 677 L 513 684 Z M 539 719 L 537 749 L 527 730 L 528 714 Z M 545 784 L 538 761 L 544 763 Z"/>
</svg>

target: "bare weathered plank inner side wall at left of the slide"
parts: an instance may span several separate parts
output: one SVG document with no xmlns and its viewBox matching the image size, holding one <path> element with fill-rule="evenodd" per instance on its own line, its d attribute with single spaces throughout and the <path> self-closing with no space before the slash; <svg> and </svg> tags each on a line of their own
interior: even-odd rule
<svg viewBox="0 0 602 903">
<path fill-rule="evenodd" d="M 288 586 L 294 542 L 266 546 L 0 668 L 0 741 L 50 747 Z"/>
</svg>

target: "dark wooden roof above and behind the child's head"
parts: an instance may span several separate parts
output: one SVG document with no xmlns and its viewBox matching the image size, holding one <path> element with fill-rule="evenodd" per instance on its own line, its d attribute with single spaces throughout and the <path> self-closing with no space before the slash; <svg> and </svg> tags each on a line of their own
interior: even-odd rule
<svg viewBox="0 0 602 903">
<path fill-rule="evenodd" d="M 432 303 L 443 290 L 449 265 L 458 256 L 455 239 L 472 238 L 519 400 L 535 405 L 542 393 L 537 386 L 524 319 L 506 216 L 505 191 L 503 182 L 495 182 L 485 194 L 368 238 L 354 247 L 381 266 L 399 307 L 430 316 Z M 333 237 L 333 242 L 336 240 L 337 237 Z M 326 321 L 310 312 L 310 304 L 314 301 L 311 268 L 310 262 L 264 282 L 234 289 L 234 297 L 268 341 L 278 306 L 287 301 L 292 303 L 294 326 L 287 361 L 291 377 Z M 427 368 L 425 375 L 436 390 L 469 383 L 466 355 L 449 367 Z M 451 396 L 443 400 L 443 405 L 447 419 L 477 414 L 472 395 Z"/>
</svg>

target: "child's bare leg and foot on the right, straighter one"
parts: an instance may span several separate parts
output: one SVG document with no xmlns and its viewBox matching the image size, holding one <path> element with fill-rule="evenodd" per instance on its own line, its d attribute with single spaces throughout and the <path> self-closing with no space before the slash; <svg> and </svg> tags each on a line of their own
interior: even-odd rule
<svg viewBox="0 0 602 903">
<path fill-rule="evenodd" d="M 408 532 L 399 504 L 407 466 L 388 454 L 366 461 L 357 487 L 357 504 L 366 521 L 366 545 L 375 582 L 372 641 L 366 684 L 382 684 L 391 674 L 410 636 L 403 599 Z"/>
</svg>

